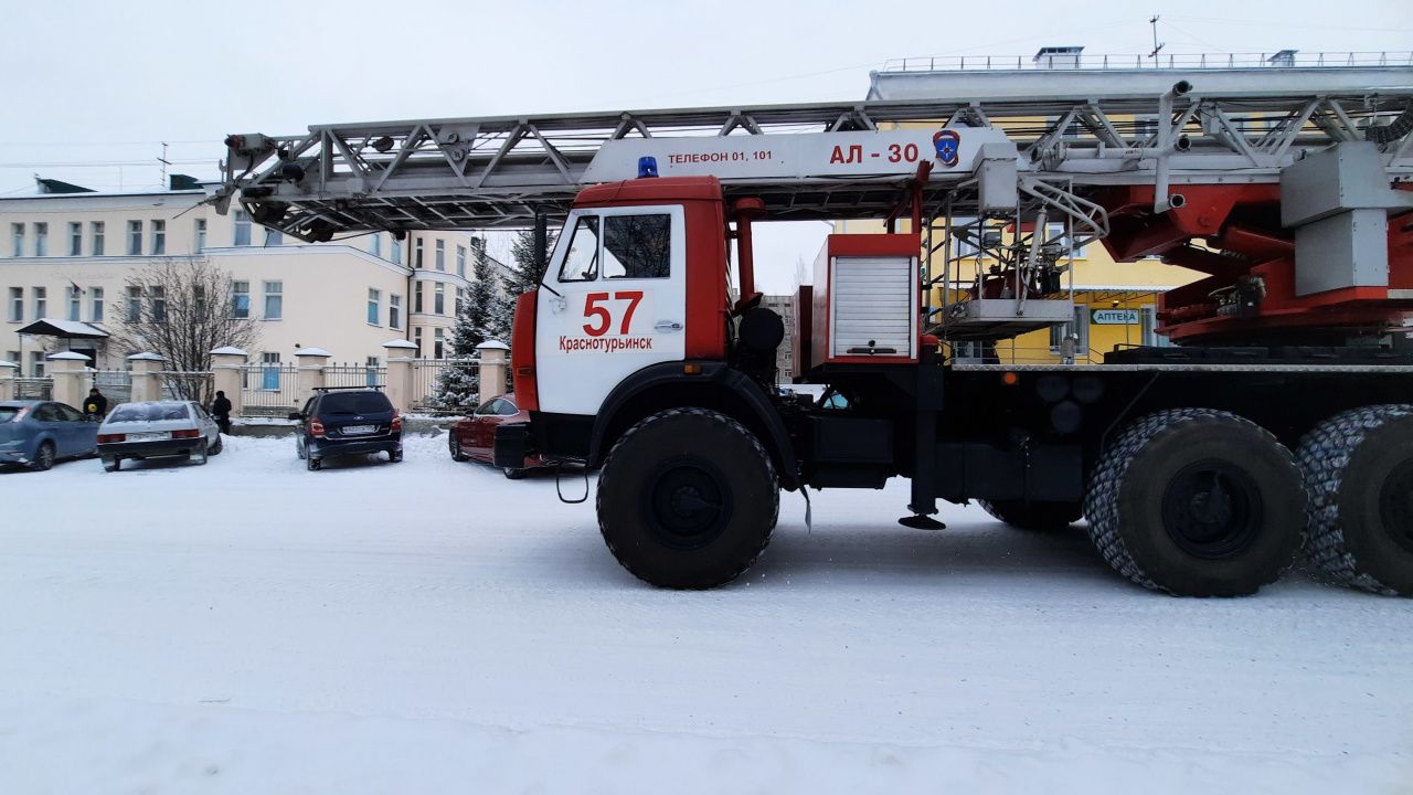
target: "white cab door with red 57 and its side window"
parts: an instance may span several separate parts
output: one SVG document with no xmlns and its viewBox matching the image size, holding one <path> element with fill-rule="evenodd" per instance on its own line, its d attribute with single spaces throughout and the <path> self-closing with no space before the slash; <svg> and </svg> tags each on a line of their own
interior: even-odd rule
<svg viewBox="0 0 1413 795">
<path fill-rule="evenodd" d="M 538 291 L 541 412 L 593 414 L 632 373 L 682 361 L 684 233 L 680 205 L 569 214 Z"/>
</svg>

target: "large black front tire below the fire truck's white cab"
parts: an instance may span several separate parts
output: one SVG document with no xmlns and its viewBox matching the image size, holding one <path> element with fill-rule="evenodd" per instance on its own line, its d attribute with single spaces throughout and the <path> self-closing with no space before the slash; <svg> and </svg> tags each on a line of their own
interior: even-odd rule
<svg viewBox="0 0 1413 795">
<path fill-rule="evenodd" d="M 664 588 L 729 583 L 770 542 L 780 487 L 770 454 L 706 409 L 653 414 L 613 446 L 598 488 L 599 530 L 617 562 Z"/>
</svg>

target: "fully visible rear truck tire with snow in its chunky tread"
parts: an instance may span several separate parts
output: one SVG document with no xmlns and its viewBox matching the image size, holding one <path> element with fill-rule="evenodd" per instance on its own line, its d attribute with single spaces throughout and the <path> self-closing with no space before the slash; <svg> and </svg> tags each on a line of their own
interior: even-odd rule
<svg viewBox="0 0 1413 795">
<path fill-rule="evenodd" d="M 1291 453 L 1260 426 L 1171 409 L 1109 443 L 1084 515 L 1089 540 L 1129 580 L 1174 596 L 1245 596 L 1294 559 L 1306 492 Z"/>
</svg>

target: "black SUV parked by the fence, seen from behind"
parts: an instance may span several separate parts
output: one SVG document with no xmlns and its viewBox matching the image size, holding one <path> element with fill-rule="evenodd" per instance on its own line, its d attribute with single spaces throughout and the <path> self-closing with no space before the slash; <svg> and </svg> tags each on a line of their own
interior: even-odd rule
<svg viewBox="0 0 1413 795">
<path fill-rule="evenodd" d="M 300 423 L 295 453 L 311 471 L 328 455 L 387 453 L 389 461 L 403 460 L 403 419 L 374 389 L 318 389 L 290 419 Z"/>
</svg>

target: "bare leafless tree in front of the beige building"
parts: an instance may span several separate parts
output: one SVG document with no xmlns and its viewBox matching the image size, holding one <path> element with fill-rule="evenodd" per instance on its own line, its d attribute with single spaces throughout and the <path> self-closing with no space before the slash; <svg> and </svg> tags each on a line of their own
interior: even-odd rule
<svg viewBox="0 0 1413 795">
<path fill-rule="evenodd" d="M 114 338 L 129 352 L 158 354 L 170 371 L 206 372 L 215 348 L 249 348 L 260 338 L 250 307 L 235 298 L 230 274 L 209 259 L 151 262 L 127 280 Z M 212 399 L 209 378 L 171 378 L 167 385 L 185 400 Z"/>
</svg>

